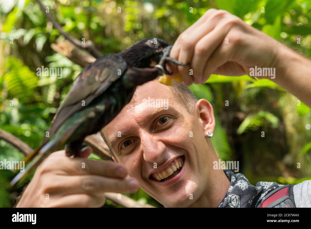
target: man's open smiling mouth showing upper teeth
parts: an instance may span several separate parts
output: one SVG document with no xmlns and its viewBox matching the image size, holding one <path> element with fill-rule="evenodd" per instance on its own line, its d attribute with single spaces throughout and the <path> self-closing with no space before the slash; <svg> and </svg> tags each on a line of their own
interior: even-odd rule
<svg viewBox="0 0 311 229">
<path fill-rule="evenodd" d="M 165 169 L 151 174 L 149 179 L 156 180 L 159 182 L 172 179 L 174 176 L 176 176 L 180 172 L 181 168 L 183 167 L 184 160 L 185 160 L 184 156 L 177 157 Z"/>
</svg>

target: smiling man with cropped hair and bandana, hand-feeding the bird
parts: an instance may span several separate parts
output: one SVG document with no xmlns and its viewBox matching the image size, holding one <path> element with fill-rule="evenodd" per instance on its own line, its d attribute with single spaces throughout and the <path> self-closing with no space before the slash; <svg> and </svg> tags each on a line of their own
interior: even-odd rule
<svg viewBox="0 0 311 229">
<path fill-rule="evenodd" d="M 190 63 L 168 66 L 186 85 L 203 83 L 212 73 L 240 76 L 255 66 L 275 68 L 271 79 L 311 105 L 311 61 L 226 11 L 208 10 L 179 36 L 170 57 Z M 148 107 L 148 97 L 169 103 Z M 73 159 L 55 152 L 38 167 L 17 207 L 100 207 L 104 192 L 132 193 L 138 185 L 165 207 L 311 207 L 310 181 L 255 187 L 242 174 L 214 170 L 214 128 L 207 100 L 197 101 L 180 84 L 148 82 L 101 131 L 118 163 L 87 160 L 90 149 Z"/>
</svg>

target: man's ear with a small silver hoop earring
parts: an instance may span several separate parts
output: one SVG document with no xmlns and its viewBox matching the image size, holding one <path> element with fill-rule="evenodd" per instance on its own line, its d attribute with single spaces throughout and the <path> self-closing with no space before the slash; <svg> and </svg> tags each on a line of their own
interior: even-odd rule
<svg viewBox="0 0 311 229">
<path fill-rule="evenodd" d="M 200 122 L 204 131 L 205 137 L 207 132 L 214 133 L 215 129 L 215 117 L 212 105 L 205 99 L 200 99 L 195 105 L 196 112 L 200 116 Z"/>
</svg>

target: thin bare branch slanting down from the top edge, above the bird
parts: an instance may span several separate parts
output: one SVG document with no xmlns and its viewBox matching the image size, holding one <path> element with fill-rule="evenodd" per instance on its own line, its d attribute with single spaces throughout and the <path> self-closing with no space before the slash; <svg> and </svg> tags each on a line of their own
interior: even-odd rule
<svg viewBox="0 0 311 229">
<path fill-rule="evenodd" d="M 78 46 L 78 47 L 80 47 L 82 49 L 87 50 L 95 58 L 99 58 L 99 57 L 102 56 L 100 51 L 96 48 L 95 44 L 91 40 L 88 40 L 88 41 L 85 42 L 85 44 L 82 44 L 81 40 L 78 40 L 78 39 L 72 37 L 71 35 L 69 35 L 68 33 L 66 33 L 62 29 L 62 26 L 60 24 L 58 24 L 58 22 L 50 15 L 50 13 L 46 12 L 46 8 L 40 2 L 40 0 L 36 0 L 36 1 L 38 2 L 38 4 L 39 4 L 41 10 L 43 11 L 43 13 L 45 14 L 45 16 L 52 22 L 54 28 L 57 29 L 59 31 L 59 33 L 62 34 L 67 40 L 70 40 L 76 46 Z"/>
</svg>

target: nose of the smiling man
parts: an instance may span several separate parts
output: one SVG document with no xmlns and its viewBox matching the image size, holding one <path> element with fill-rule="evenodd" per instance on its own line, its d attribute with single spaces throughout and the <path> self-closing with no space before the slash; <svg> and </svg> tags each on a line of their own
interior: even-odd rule
<svg viewBox="0 0 311 229">
<path fill-rule="evenodd" d="M 156 136 L 145 133 L 141 137 L 141 145 L 144 160 L 147 162 L 157 162 L 165 151 L 165 144 Z"/>
</svg>

